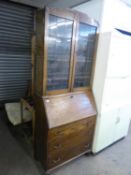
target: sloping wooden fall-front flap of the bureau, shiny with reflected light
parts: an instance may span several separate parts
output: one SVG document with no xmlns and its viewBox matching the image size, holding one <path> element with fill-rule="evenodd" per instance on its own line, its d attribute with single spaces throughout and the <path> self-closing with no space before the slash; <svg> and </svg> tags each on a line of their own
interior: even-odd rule
<svg viewBox="0 0 131 175">
<path fill-rule="evenodd" d="M 96 115 L 90 91 L 43 97 L 49 128 L 58 127 Z"/>
</svg>

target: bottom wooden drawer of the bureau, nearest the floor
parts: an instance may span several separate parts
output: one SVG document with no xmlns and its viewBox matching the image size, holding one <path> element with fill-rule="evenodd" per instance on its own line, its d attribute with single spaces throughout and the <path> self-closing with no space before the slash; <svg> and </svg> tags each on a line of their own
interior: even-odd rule
<svg viewBox="0 0 131 175">
<path fill-rule="evenodd" d="M 48 169 L 51 169 L 67 160 L 72 159 L 73 157 L 89 151 L 90 147 L 90 141 L 83 141 L 83 143 L 79 143 L 75 146 L 69 146 L 67 149 L 59 149 L 55 152 L 48 153 Z"/>
</svg>

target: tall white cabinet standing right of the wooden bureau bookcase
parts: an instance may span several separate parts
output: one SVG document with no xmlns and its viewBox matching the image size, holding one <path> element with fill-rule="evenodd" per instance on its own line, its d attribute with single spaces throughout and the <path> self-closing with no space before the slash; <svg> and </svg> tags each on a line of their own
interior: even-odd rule
<svg viewBox="0 0 131 175">
<path fill-rule="evenodd" d="M 98 118 L 96 153 L 125 137 L 131 119 L 131 36 L 117 30 L 99 37 L 93 92 Z"/>
</svg>

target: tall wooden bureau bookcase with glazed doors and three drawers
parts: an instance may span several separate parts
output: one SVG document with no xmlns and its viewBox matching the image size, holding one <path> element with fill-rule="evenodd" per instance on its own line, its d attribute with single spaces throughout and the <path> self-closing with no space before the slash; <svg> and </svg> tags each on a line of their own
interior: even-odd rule
<svg viewBox="0 0 131 175">
<path fill-rule="evenodd" d="M 36 12 L 35 156 L 46 171 L 91 150 L 96 29 L 77 11 Z"/>
</svg>

